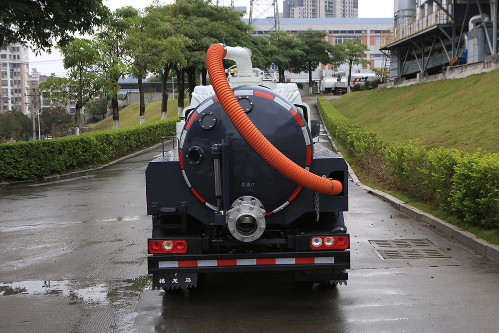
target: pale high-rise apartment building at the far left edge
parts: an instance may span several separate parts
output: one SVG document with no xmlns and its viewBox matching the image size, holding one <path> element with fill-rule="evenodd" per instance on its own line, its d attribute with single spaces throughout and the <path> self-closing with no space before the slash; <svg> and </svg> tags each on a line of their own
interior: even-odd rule
<svg viewBox="0 0 499 333">
<path fill-rule="evenodd" d="M 28 49 L 25 46 L 17 43 L 0 49 L 0 113 L 19 110 L 29 115 L 28 64 Z"/>
</svg>

